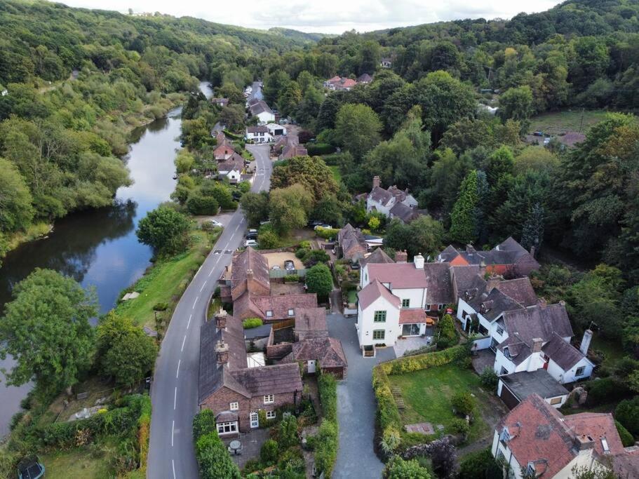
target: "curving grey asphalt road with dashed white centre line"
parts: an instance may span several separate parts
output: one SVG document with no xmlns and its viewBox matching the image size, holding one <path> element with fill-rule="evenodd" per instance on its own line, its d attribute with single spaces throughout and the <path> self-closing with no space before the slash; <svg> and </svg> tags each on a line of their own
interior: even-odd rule
<svg viewBox="0 0 639 479">
<path fill-rule="evenodd" d="M 251 191 L 268 190 L 271 160 L 268 145 L 247 145 L 255 156 Z M 200 326 L 208 299 L 224 267 L 244 240 L 246 220 L 241 210 L 231 215 L 202 267 L 171 318 L 156 360 L 151 391 L 153 414 L 147 478 L 198 478 L 191 421 L 198 410 Z"/>
</svg>

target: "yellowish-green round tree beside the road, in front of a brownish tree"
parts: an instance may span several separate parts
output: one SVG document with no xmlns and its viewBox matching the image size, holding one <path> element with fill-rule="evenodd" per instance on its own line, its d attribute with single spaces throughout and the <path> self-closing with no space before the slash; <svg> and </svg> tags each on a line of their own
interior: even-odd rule
<svg viewBox="0 0 639 479">
<path fill-rule="evenodd" d="M 301 184 L 271 190 L 269 217 L 278 234 L 288 234 L 308 222 L 313 196 Z"/>
</svg>

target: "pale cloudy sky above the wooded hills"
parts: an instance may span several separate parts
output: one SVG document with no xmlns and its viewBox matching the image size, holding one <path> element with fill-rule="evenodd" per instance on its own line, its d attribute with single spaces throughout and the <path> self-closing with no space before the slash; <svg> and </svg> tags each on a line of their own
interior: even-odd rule
<svg viewBox="0 0 639 479">
<path fill-rule="evenodd" d="M 60 0 L 69 6 L 127 13 L 191 16 L 241 27 L 286 27 L 302 32 L 370 32 L 442 20 L 511 18 L 548 10 L 553 0 Z"/>
</svg>

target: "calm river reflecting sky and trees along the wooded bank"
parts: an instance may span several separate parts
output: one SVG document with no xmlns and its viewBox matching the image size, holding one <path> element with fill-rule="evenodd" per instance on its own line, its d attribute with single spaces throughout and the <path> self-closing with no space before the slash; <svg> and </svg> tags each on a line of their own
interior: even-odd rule
<svg viewBox="0 0 639 479">
<path fill-rule="evenodd" d="M 200 83 L 207 98 L 212 96 L 207 82 Z M 116 192 L 114 205 L 68 215 L 55 222 L 48 238 L 32 241 L 11 251 L 0 268 L 0 311 L 11 300 L 15 283 L 35 268 L 55 269 L 72 276 L 85 288 L 95 288 L 100 313 L 112 309 L 119 292 L 144 274 L 152 251 L 137 242 L 137 222 L 159 203 L 167 201 L 175 188 L 173 160 L 180 148 L 180 108 L 163 118 L 138 128 L 131 134 L 126 163 L 133 184 Z M 0 368 L 10 368 L 11 358 L 0 360 Z M 5 387 L 0 375 L 0 437 L 20 409 L 20 400 L 30 384 Z"/>
</svg>

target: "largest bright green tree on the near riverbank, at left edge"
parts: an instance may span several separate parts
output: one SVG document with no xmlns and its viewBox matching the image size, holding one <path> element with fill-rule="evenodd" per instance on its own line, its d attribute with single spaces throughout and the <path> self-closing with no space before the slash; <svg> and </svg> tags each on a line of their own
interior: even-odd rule
<svg viewBox="0 0 639 479">
<path fill-rule="evenodd" d="M 16 360 L 7 384 L 35 379 L 51 393 L 76 384 L 91 365 L 95 293 L 57 271 L 36 268 L 12 296 L 0 321 L 0 358 L 11 354 Z"/>
</svg>

